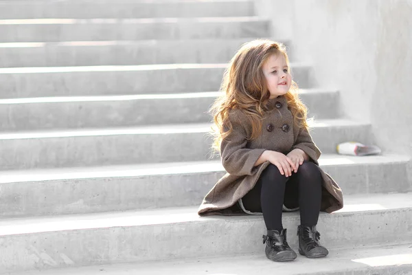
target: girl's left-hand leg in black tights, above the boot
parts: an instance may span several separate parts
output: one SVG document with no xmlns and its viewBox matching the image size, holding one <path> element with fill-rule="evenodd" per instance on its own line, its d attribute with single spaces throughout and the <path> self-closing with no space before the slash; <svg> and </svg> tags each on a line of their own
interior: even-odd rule
<svg viewBox="0 0 412 275">
<path fill-rule="evenodd" d="M 255 187 L 242 198 L 244 208 L 251 212 L 262 212 L 268 230 L 281 232 L 282 206 L 288 179 L 273 164 L 262 172 Z"/>
</svg>

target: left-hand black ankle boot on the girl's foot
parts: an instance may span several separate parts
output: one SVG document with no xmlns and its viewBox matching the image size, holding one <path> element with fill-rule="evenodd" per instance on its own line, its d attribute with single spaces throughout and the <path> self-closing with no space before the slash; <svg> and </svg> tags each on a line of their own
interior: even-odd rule
<svg viewBox="0 0 412 275">
<path fill-rule="evenodd" d="M 267 241 L 267 243 L 266 243 Z M 286 241 L 286 229 L 279 234 L 277 230 L 268 230 L 267 236 L 263 235 L 263 243 L 266 243 L 266 257 L 275 262 L 293 261 L 297 255 Z"/>
</svg>

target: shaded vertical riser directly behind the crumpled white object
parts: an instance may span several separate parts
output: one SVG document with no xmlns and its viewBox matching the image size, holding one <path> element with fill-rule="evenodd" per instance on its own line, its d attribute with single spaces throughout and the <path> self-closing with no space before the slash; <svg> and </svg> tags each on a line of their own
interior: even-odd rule
<svg viewBox="0 0 412 275">
<path fill-rule="evenodd" d="M 368 144 L 369 128 L 314 129 L 314 142 L 323 153 L 334 153 L 339 142 L 357 140 Z M 0 165 L 8 170 L 188 162 L 211 159 L 210 146 L 211 137 L 204 131 L 0 140 Z"/>
</svg>

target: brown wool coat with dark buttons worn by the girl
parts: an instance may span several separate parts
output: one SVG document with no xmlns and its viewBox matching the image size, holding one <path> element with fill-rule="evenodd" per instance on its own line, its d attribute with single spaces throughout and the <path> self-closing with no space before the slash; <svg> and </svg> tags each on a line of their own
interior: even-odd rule
<svg viewBox="0 0 412 275">
<path fill-rule="evenodd" d="M 198 209 L 199 215 L 245 214 L 241 199 L 255 186 L 262 171 L 270 164 L 264 162 L 253 166 L 265 150 L 287 154 L 300 148 L 308 154 L 311 162 L 319 165 L 321 152 L 306 129 L 293 127 L 293 115 L 288 109 L 286 98 L 279 96 L 271 99 L 267 106 L 269 111 L 262 121 L 262 134 L 255 140 L 246 139 L 250 137 L 252 129 L 246 114 L 238 109 L 229 113 L 233 130 L 220 146 L 222 165 L 227 173 L 207 193 Z M 343 208 L 341 188 L 323 170 L 321 178 L 321 210 L 334 212 Z"/>
</svg>

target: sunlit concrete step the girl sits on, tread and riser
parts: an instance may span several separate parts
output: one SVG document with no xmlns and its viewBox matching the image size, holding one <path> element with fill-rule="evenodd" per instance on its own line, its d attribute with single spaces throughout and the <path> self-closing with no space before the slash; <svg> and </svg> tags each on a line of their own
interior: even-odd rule
<svg viewBox="0 0 412 275">
<path fill-rule="evenodd" d="M 3 219 L 0 272 L 264 253 L 262 217 L 198 217 L 196 210 Z M 299 214 L 284 213 L 283 220 L 296 249 Z M 410 243 L 411 220 L 412 193 L 348 195 L 343 210 L 321 213 L 317 228 L 334 253 L 361 244 Z"/>
</svg>

